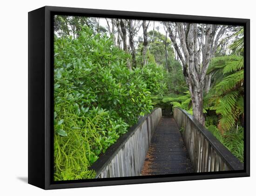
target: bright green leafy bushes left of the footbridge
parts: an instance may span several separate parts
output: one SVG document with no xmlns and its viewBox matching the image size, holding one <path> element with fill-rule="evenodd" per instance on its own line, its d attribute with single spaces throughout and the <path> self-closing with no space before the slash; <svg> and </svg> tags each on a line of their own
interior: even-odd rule
<svg viewBox="0 0 256 196">
<path fill-rule="evenodd" d="M 55 37 L 54 54 L 54 178 L 91 178 L 99 154 L 153 109 L 163 76 L 154 64 L 129 70 L 129 56 L 89 28 Z"/>
</svg>

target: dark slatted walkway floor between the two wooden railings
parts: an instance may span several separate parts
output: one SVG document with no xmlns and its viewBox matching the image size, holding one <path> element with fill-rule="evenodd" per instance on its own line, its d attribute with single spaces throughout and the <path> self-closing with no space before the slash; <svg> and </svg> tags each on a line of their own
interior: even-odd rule
<svg viewBox="0 0 256 196">
<path fill-rule="evenodd" d="M 163 117 L 152 137 L 141 175 L 194 172 L 174 118 Z"/>
</svg>

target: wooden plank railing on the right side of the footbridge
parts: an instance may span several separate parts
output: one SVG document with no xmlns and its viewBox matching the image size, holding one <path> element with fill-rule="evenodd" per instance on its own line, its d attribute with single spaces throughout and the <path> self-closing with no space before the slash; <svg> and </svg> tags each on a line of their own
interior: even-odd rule
<svg viewBox="0 0 256 196">
<path fill-rule="evenodd" d="M 193 116 L 175 107 L 174 118 L 183 132 L 195 172 L 243 170 L 243 163 Z"/>
</svg>

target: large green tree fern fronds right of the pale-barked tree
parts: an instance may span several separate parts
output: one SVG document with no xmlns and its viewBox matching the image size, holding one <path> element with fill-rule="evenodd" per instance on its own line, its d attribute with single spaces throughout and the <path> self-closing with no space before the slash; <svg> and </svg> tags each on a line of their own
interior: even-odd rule
<svg viewBox="0 0 256 196">
<path fill-rule="evenodd" d="M 206 96 L 208 108 L 216 110 L 218 128 L 224 133 L 243 116 L 243 57 L 216 57 L 211 61 L 208 73 L 214 74 L 213 77 L 217 74 L 218 78 Z"/>
</svg>

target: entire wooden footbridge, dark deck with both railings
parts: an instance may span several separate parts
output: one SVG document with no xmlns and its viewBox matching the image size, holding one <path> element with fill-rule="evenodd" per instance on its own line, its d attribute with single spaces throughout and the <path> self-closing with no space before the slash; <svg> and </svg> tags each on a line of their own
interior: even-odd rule
<svg viewBox="0 0 256 196">
<path fill-rule="evenodd" d="M 178 127 L 184 127 L 183 138 Z M 184 140 L 183 140 L 184 139 Z M 243 170 L 239 161 L 187 111 L 155 108 L 90 167 L 96 178 Z"/>
</svg>

